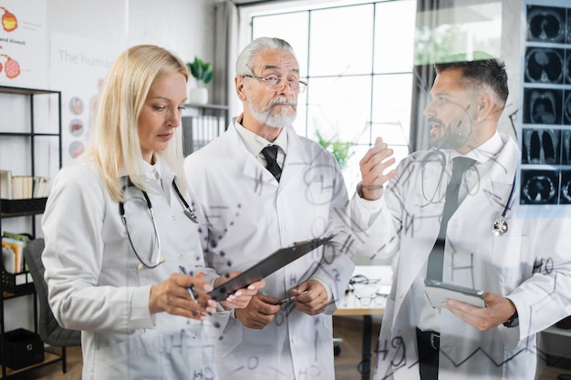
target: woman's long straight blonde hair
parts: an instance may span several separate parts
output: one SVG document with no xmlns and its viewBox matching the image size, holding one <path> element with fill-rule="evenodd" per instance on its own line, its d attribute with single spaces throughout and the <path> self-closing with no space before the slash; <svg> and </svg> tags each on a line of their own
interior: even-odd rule
<svg viewBox="0 0 571 380">
<path fill-rule="evenodd" d="M 188 81 L 188 68 L 181 58 L 152 45 L 130 47 L 109 68 L 99 95 L 95 131 L 84 158 L 95 160 L 114 200 L 123 200 L 123 173 L 130 176 L 135 186 L 149 191 L 142 180 L 138 118 L 151 85 L 174 73 L 181 73 Z M 175 128 L 169 147 L 155 154 L 168 162 L 176 172 L 177 184 L 186 189 L 182 128 Z"/>
</svg>

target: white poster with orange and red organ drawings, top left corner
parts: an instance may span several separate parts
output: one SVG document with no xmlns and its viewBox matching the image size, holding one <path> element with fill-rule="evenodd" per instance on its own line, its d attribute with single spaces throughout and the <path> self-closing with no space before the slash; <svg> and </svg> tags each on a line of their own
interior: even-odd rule
<svg viewBox="0 0 571 380">
<path fill-rule="evenodd" d="M 0 85 L 47 87 L 47 0 L 0 0 Z"/>
</svg>

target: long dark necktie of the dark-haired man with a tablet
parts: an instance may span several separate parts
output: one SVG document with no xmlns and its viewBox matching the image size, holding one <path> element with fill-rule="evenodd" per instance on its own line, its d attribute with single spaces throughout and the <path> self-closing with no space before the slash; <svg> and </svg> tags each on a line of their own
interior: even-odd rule
<svg viewBox="0 0 571 380">
<path fill-rule="evenodd" d="M 444 243 L 446 241 L 446 229 L 452 214 L 458 209 L 458 192 L 462 183 L 462 174 L 474 164 L 474 159 L 456 157 L 452 159 L 452 179 L 446 188 L 444 211 L 442 211 L 441 231 L 434 243 L 429 256 L 428 272 L 426 277 L 432 280 L 442 281 L 442 267 L 444 265 Z"/>
</svg>

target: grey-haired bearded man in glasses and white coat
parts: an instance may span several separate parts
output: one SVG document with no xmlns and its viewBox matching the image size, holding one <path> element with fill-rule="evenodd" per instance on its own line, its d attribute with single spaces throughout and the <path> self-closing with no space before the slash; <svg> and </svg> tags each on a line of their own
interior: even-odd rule
<svg viewBox="0 0 571 380">
<path fill-rule="evenodd" d="M 217 272 L 244 271 L 296 241 L 334 235 L 325 249 L 266 277 L 244 311 L 218 314 L 221 378 L 335 378 L 331 314 L 354 269 L 350 244 L 343 246 L 348 193 L 333 156 L 291 126 L 306 88 L 299 75 L 287 42 L 255 39 L 236 62 L 244 112 L 185 160 L 196 208 L 207 221 L 202 248 Z M 275 162 L 265 157 L 268 146 L 278 147 Z M 296 300 L 278 304 L 289 296 Z"/>
</svg>

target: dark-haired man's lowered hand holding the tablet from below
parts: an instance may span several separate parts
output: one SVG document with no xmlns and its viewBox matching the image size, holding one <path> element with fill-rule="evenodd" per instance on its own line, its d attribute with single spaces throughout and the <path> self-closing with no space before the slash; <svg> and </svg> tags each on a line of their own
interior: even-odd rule
<svg viewBox="0 0 571 380">
<path fill-rule="evenodd" d="M 443 306 L 480 331 L 504 324 L 515 313 L 514 303 L 499 294 L 484 293 L 483 302 L 485 307 L 476 307 L 468 303 L 448 300 L 443 303 Z"/>
</svg>

